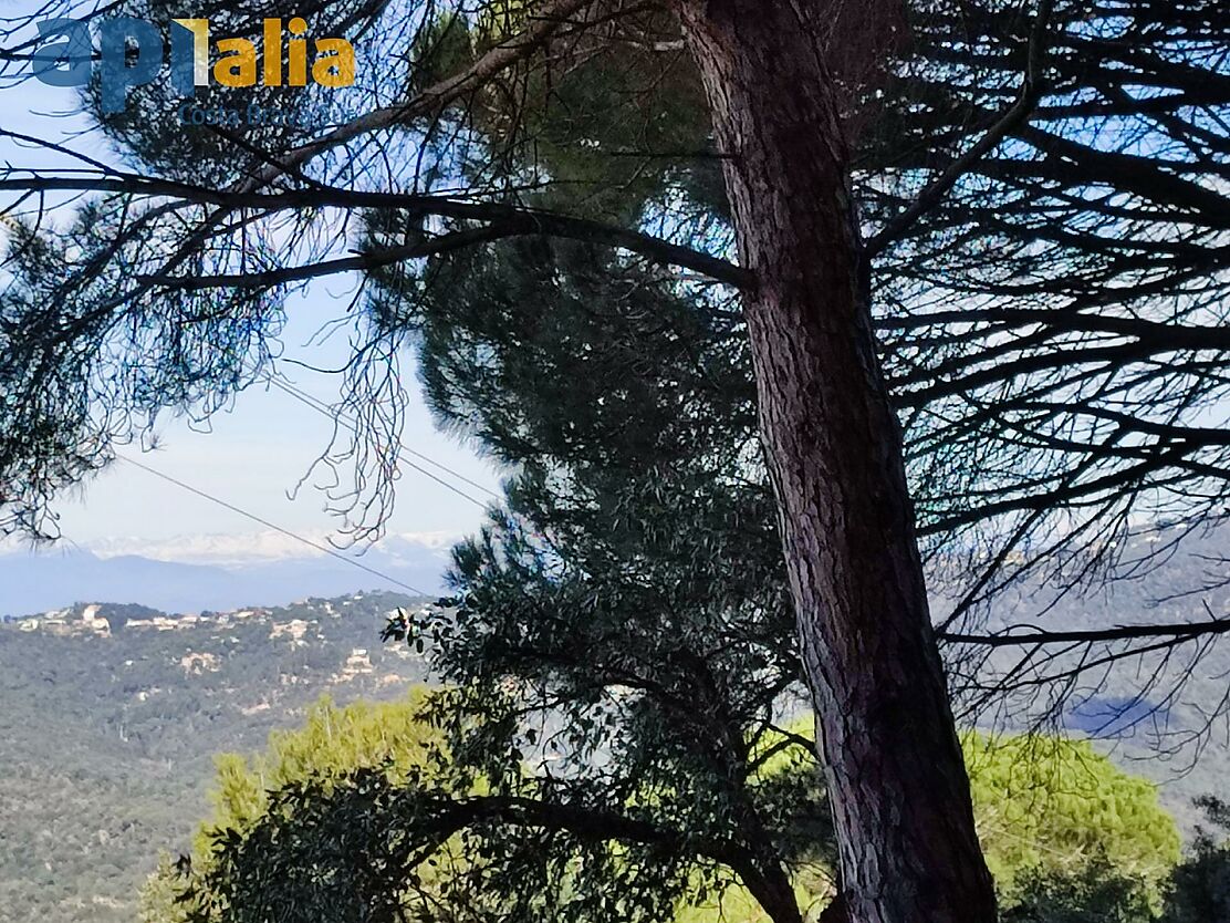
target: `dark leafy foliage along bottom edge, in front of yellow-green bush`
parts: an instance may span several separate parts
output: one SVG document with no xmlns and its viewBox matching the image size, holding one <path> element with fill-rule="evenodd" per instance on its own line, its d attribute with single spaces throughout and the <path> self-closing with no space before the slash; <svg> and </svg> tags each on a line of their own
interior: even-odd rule
<svg viewBox="0 0 1230 923">
<path fill-rule="evenodd" d="M 219 866 L 193 892 L 192 918 L 241 923 L 277 908 L 288 921 L 360 923 L 396 919 L 408 905 L 423 921 L 649 921 L 669 918 L 686 885 L 679 853 L 614 850 L 597 813 L 588 832 L 541 820 L 525 838 L 509 837 L 507 825 L 523 817 L 515 800 L 433 797 L 415 783 L 358 772 L 332 793 L 311 783 L 283 790 L 268 821 L 216 841 Z M 529 811 L 550 813 L 541 804 Z M 450 839 L 460 859 L 448 855 Z M 280 874 L 255 874 L 271 861 Z"/>
</svg>

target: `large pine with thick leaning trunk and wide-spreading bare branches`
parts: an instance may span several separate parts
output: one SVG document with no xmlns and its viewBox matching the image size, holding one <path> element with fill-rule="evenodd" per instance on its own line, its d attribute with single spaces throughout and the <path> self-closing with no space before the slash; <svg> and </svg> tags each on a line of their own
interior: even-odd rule
<svg viewBox="0 0 1230 923">
<path fill-rule="evenodd" d="M 315 6 L 322 34 L 363 36 L 370 62 L 408 49 L 408 70 L 373 66 L 348 95 L 210 92 L 293 114 L 255 132 L 184 132 L 151 85 L 103 119 L 137 170 L 0 175 L 0 190 L 102 193 L 66 230 L 16 235 L 7 522 L 44 525 L 49 492 L 105 461 L 133 416 L 214 407 L 257 379 L 282 298 L 317 276 L 381 277 L 352 406 L 385 450 L 396 389 L 391 405 L 364 389 L 383 394 L 373 359 L 405 332 L 389 290 L 421 298 L 424 257 L 577 239 L 656 263 L 676 297 L 727 286 L 850 918 L 991 919 L 915 507 L 973 560 L 993 551 L 958 612 L 1005 562 L 1073 560 L 1017 554 L 1057 522 L 1053 545 L 1096 560 L 1129 513 L 1220 514 L 1216 4 Z M 260 11 L 207 14 L 219 33 L 260 31 Z M 6 59 L 28 48 L 15 38 Z M 359 215 L 362 250 L 341 256 Z M 610 299 L 620 284 L 613 271 Z M 908 460 L 925 477 L 913 498 Z"/>
</svg>

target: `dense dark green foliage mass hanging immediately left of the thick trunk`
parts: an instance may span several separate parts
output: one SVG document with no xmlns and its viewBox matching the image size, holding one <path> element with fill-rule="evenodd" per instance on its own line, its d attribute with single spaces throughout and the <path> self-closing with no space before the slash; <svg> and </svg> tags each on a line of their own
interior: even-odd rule
<svg viewBox="0 0 1230 923">
<path fill-rule="evenodd" d="M 456 550 L 456 619 L 430 626 L 459 705 L 528 683 L 524 708 L 562 719 L 549 746 L 608 796 L 649 791 L 659 823 L 804 858 L 798 825 L 824 809 L 748 779 L 798 663 L 737 318 L 579 245 L 434 271 L 428 395 L 518 465 Z"/>
</svg>

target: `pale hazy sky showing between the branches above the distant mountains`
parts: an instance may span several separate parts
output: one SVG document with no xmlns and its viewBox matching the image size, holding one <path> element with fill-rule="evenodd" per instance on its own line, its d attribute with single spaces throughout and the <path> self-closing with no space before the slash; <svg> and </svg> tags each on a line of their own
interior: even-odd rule
<svg viewBox="0 0 1230 923">
<path fill-rule="evenodd" d="M 0 126 L 25 134 L 50 138 L 91 156 L 107 159 L 97 138 L 73 138 L 84 127 L 73 90 L 26 81 L 17 87 L 0 87 Z M 49 113 L 59 113 L 53 116 Z M 0 161 L 14 166 L 46 166 L 48 155 L 0 139 Z M 11 199 L 10 199 L 11 201 Z M 0 197 L 0 208 L 6 201 Z M 0 234 L 2 234 L 0 228 Z M 2 281 L 0 281 L 2 284 Z M 289 325 L 283 337 L 285 354 L 317 366 L 328 366 L 346 352 L 344 335 L 323 347 L 305 347 L 321 322 L 337 316 L 348 300 L 353 278 L 333 277 L 319 282 L 289 305 Z M 407 366 L 410 366 L 408 358 Z M 337 382 L 288 364 L 279 368 L 304 390 L 330 402 Z M 417 382 L 412 390 L 419 393 Z M 278 525 L 321 533 L 335 525 L 322 511 L 323 498 L 304 490 L 295 501 L 287 497 L 310 461 L 325 448 L 330 422 L 309 407 L 276 389 L 253 388 L 241 394 L 232 412 L 213 420 L 213 432 L 193 432 L 180 421 L 160 427 L 156 452 L 133 453 L 192 486 L 244 507 Z M 491 487 L 497 485 L 492 466 L 456 439 L 435 431 L 422 401 L 408 414 L 405 443 Z M 474 489 L 466 487 L 470 492 Z M 65 537 L 89 545 L 108 537 L 139 537 L 157 540 L 194 533 L 251 533 L 262 527 L 192 493 L 133 468 L 116 464 L 91 482 L 64 497 L 55 508 L 62 514 Z M 480 496 L 482 496 L 480 493 Z M 406 470 L 397 495 L 397 512 L 390 530 L 472 530 L 482 521 L 482 509 L 413 470 Z"/>
</svg>

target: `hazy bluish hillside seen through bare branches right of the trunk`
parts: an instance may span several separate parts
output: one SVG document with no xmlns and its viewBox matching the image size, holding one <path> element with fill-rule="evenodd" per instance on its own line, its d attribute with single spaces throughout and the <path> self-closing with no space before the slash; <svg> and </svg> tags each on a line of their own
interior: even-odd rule
<svg viewBox="0 0 1230 923">
<path fill-rule="evenodd" d="M 1164 551 L 1151 559 L 1157 548 Z M 1228 527 L 1197 534 L 1159 529 L 1125 543 L 1124 559 L 1139 562 L 1132 577 L 1066 594 L 1038 581 L 1020 581 L 988 607 L 985 625 L 998 633 L 1089 631 L 1225 619 L 1230 585 L 1219 573 L 1226 548 Z M 941 618 L 943 605 L 932 601 Z M 1140 641 L 1148 644 L 1149 639 Z M 978 689 L 972 687 L 963 697 L 972 704 L 962 722 L 1018 731 L 1041 725 L 1095 737 L 1122 767 L 1162 785 L 1162 804 L 1188 834 L 1200 821 L 1193 799 L 1230 800 L 1230 725 L 1224 709 L 1230 642 L 1212 636 L 1161 646 L 1130 666 L 1109 660 L 1116 656 L 1112 647 L 1076 645 L 1052 655 L 1022 669 L 1020 651 L 991 651 L 979 662 L 980 682 L 994 685 L 1017 669 L 1017 684 L 1011 693 L 988 699 L 986 708 L 979 706 Z M 1095 661 L 1101 666 L 1064 678 Z M 951 666 L 954 685 L 961 687 L 968 665 Z M 1057 678 L 1054 685 L 1038 684 L 1043 677 Z"/>
</svg>

